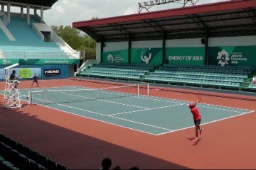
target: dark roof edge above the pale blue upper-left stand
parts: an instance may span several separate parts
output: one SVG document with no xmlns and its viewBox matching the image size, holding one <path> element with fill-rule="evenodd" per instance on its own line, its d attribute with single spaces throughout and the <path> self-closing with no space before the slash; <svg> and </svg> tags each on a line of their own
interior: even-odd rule
<svg viewBox="0 0 256 170">
<path fill-rule="evenodd" d="M 9 0 L 9 1 L 11 2 L 11 4 L 31 4 L 36 6 L 51 7 L 58 0 Z M 6 1 L 6 3 L 8 3 L 9 1 Z"/>
</svg>

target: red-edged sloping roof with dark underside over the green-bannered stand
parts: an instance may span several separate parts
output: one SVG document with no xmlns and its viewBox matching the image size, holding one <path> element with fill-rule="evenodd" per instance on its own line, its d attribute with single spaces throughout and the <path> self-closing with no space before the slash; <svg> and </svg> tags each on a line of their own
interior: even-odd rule
<svg viewBox="0 0 256 170">
<path fill-rule="evenodd" d="M 219 3 L 73 23 L 97 42 L 256 35 L 256 1 Z"/>
</svg>

